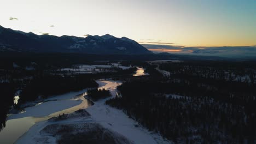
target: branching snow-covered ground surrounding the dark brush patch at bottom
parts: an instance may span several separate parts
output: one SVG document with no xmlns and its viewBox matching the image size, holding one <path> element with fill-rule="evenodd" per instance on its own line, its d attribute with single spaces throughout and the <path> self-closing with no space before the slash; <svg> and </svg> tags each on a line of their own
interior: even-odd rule
<svg viewBox="0 0 256 144">
<path fill-rule="evenodd" d="M 117 86 L 121 85 L 121 81 L 112 81 L 112 80 L 98 80 L 96 81 L 99 85 L 99 88 L 105 88 L 110 91 L 113 98 L 117 93 Z M 67 94 L 69 95 L 69 94 Z M 71 94 L 70 94 L 71 95 Z M 69 98 L 66 96 L 65 98 Z M 126 137 L 133 143 L 171 143 L 163 139 L 159 134 L 148 131 L 146 128 L 141 127 L 136 121 L 129 118 L 122 110 L 115 109 L 109 105 L 105 105 L 105 101 L 110 99 L 100 99 L 95 101 L 94 105 L 88 107 L 86 111 L 90 113 L 89 117 L 73 117 L 68 118 L 63 121 L 49 122 L 42 121 L 34 124 L 30 130 L 27 131 L 16 143 L 44 143 L 50 142 L 55 143 L 56 137 L 41 134 L 40 131 L 44 129 L 49 124 L 76 124 L 75 127 L 83 127 L 86 123 L 98 123 L 102 127 L 118 133 Z M 59 101 L 60 102 L 60 101 Z M 48 102 L 47 102 L 48 103 Z M 43 104 L 41 104 L 43 105 Z M 58 104 L 59 105 L 59 104 Z M 62 105 L 62 104 L 61 104 Z M 64 104 L 65 105 L 65 104 Z M 44 105 L 44 107 L 48 105 Z M 55 105 L 56 106 L 56 105 Z M 43 107 L 40 107 L 41 109 Z M 135 127 L 135 125 L 139 125 Z"/>
</svg>

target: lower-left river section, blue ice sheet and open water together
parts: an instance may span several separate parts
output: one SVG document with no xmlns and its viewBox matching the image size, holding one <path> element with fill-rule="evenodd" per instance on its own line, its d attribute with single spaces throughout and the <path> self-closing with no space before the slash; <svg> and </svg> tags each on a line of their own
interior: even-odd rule
<svg viewBox="0 0 256 144">
<path fill-rule="evenodd" d="M 90 103 L 83 97 L 86 91 L 87 89 L 83 89 L 78 92 L 55 95 L 45 99 L 43 103 L 26 107 L 24 113 L 10 115 L 5 128 L 0 132 L 0 143 L 14 143 L 37 122 L 88 107 Z"/>
</svg>

